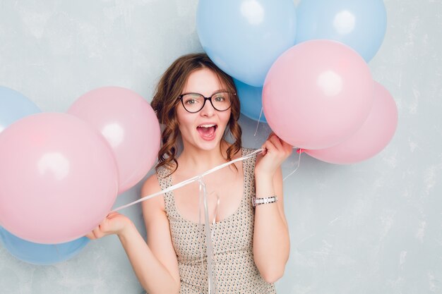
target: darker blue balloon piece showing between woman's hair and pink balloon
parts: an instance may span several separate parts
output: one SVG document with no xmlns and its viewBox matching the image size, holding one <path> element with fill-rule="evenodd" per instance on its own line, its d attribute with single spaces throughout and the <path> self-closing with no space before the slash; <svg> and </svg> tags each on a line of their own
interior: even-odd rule
<svg viewBox="0 0 442 294">
<path fill-rule="evenodd" d="M 234 79 L 234 82 L 237 86 L 237 94 L 241 103 L 241 114 L 254 121 L 267 123 L 264 111 L 261 114 L 261 109 L 263 108 L 263 87 L 253 87 L 236 79 Z M 260 114 L 261 118 L 259 118 Z"/>
</svg>

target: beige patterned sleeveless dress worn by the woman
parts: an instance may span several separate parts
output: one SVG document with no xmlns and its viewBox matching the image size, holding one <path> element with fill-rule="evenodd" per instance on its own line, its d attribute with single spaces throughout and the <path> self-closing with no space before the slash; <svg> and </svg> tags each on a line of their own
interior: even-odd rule
<svg viewBox="0 0 442 294">
<path fill-rule="evenodd" d="M 254 149 L 242 148 L 242 156 Z M 253 261 L 252 238 L 255 211 L 251 197 L 255 195 L 256 155 L 243 161 L 244 195 L 234 214 L 211 224 L 214 272 L 219 294 L 225 293 L 276 293 L 275 286 L 266 283 Z M 168 171 L 157 172 L 162 190 L 172 185 Z M 170 224 L 170 233 L 177 252 L 181 294 L 208 293 L 208 272 L 205 259 L 204 225 L 184 219 L 175 207 L 174 194 L 165 194 L 165 209 Z M 203 246 L 201 247 L 201 244 Z M 201 264 L 201 248 L 203 264 Z"/>
</svg>

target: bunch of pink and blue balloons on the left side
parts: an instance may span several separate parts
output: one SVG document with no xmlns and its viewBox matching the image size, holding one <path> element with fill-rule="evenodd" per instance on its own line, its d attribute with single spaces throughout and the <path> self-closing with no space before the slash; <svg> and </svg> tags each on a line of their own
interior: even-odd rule
<svg viewBox="0 0 442 294">
<path fill-rule="evenodd" d="M 87 243 L 119 193 L 155 163 L 160 125 L 143 97 L 102 87 L 63 113 L 40 113 L 0 87 L 0 231 L 25 262 L 66 260 Z"/>
</svg>

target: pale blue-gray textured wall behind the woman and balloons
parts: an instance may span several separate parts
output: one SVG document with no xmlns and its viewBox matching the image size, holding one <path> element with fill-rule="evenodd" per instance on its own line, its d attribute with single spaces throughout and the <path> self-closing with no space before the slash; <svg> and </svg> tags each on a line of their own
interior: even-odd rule
<svg viewBox="0 0 442 294">
<path fill-rule="evenodd" d="M 352 166 L 301 157 L 285 182 L 292 251 L 279 293 L 442 293 L 442 1 L 386 0 L 388 30 L 371 61 L 399 110 L 378 156 Z M 201 51 L 196 0 L 0 0 L 0 85 L 43 111 L 84 92 L 128 87 L 150 100 L 177 56 Z M 268 134 L 241 118 L 245 145 Z M 294 169 L 292 156 L 284 173 Z M 139 185 L 117 205 L 138 197 Z M 139 206 L 124 211 L 144 233 Z M 119 240 L 38 267 L 0 246 L 0 293 L 141 293 Z"/>
</svg>

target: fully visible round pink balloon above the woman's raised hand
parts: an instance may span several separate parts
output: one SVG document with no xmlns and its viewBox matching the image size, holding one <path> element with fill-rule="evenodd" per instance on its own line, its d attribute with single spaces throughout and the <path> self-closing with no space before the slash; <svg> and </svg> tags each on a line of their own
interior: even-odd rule
<svg viewBox="0 0 442 294">
<path fill-rule="evenodd" d="M 323 149 L 350 137 L 373 103 L 373 80 L 356 51 L 331 40 L 288 49 L 273 63 L 263 87 L 270 128 L 290 145 Z"/>
</svg>

